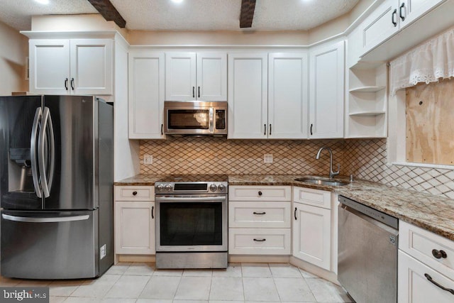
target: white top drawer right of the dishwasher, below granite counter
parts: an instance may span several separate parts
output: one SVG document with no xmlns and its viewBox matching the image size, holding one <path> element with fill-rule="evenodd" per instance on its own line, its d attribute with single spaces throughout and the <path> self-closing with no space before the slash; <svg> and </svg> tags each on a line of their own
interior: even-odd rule
<svg viewBox="0 0 454 303">
<path fill-rule="evenodd" d="M 400 221 L 399 249 L 454 280 L 454 241 Z M 432 250 L 443 250 L 445 258 L 436 258 Z"/>
</svg>

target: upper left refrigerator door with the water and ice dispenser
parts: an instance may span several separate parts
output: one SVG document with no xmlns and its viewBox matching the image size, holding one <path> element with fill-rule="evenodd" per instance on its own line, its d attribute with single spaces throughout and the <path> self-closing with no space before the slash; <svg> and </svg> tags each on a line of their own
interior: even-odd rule
<svg viewBox="0 0 454 303">
<path fill-rule="evenodd" d="M 0 97 L 0 200 L 5 209 L 42 209 L 37 133 L 42 97 Z"/>
</svg>

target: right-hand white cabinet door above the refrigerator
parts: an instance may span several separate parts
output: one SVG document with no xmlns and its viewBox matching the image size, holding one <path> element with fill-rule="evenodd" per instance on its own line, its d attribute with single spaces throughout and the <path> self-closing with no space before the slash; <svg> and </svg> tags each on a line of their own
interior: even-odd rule
<svg viewBox="0 0 454 303">
<path fill-rule="evenodd" d="M 112 94 L 113 40 L 71 40 L 71 90 L 74 94 Z"/>
</svg>

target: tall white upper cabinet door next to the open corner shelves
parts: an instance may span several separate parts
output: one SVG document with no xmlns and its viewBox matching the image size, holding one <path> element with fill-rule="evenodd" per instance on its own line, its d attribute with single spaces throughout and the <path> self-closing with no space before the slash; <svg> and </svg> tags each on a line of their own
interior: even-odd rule
<svg viewBox="0 0 454 303">
<path fill-rule="evenodd" d="M 309 138 L 343 138 L 344 42 L 310 53 Z"/>
</svg>

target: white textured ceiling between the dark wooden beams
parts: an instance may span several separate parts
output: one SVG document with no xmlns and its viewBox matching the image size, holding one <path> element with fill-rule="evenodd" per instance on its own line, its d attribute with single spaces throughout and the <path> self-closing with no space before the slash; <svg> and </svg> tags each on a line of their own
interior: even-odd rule
<svg viewBox="0 0 454 303">
<path fill-rule="evenodd" d="M 257 0 L 257 31 L 308 30 L 348 13 L 359 0 Z M 126 28 L 144 31 L 240 31 L 241 0 L 111 0 Z M 31 29 L 31 16 L 97 13 L 87 0 L 0 0 L 0 21 L 18 30 Z"/>
</svg>

